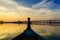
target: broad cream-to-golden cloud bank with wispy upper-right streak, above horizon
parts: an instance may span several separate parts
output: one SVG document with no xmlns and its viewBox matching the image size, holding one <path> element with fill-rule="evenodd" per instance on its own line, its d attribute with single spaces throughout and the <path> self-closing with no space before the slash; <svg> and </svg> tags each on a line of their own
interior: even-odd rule
<svg viewBox="0 0 60 40">
<path fill-rule="evenodd" d="M 49 8 L 44 8 L 45 6 L 51 5 L 52 2 L 48 4 L 43 0 L 41 3 L 33 5 L 32 8 L 24 7 L 19 5 L 17 2 L 12 0 L 0 0 L 0 19 L 1 20 L 18 20 L 27 17 L 31 17 L 32 20 L 43 20 L 43 19 L 53 19 L 54 17 L 60 17 L 58 10 L 51 10 Z M 54 3 L 53 3 L 54 4 Z M 43 7 L 44 6 L 44 7 Z M 40 9 L 36 9 L 39 8 Z M 42 7 L 42 8 L 41 8 Z M 58 15 L 58 16 L 57 16 Z M 2 17 L 3 16 L 3 17 Z M 2 17 L 2 18 L 1 18 Z"/>
</svg>

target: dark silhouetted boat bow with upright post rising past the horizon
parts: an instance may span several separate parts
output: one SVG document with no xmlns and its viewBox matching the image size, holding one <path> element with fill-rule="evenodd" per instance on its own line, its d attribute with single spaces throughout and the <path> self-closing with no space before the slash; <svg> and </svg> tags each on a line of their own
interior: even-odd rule
<svg viewBox="0 0 60 40">
<path fill-rule="evenodd" d="M 30 18 L 28 18 L 27 29 L 22 33 L 13 38 L 12 40 L 46 40 L 44 37 L 35 33 L 30 26 Z"/>
</svg>

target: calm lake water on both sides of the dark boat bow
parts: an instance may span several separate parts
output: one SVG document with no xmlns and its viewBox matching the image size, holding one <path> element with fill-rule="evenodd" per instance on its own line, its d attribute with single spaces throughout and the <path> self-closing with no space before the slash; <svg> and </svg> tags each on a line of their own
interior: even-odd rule
<svg viewBox="0 0 60 40">
<path fill-rule="evenodd" d="M 0 25 L 0 40 L 11 40 L 21 34 L 27 28 L 26 24 L 3 24 Z M 48 39 L 58 39 L 60 36 L 60 26 L 31 25 L 31 28 L 39 35 Z M 58 37 L 58 38 L 57 38 Z M 55 39 L 55 40 L 56 40 Z M 59 39 L 58 39 L 59 40 Z"/>
</svg>

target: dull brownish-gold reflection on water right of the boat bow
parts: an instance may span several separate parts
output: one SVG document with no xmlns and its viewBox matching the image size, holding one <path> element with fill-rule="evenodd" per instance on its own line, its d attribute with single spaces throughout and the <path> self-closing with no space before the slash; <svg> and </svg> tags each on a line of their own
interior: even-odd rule
<svg viewBox="0 0 60 40">
<path fill-rule="evenodd" d="M 33 25 L 32 29 L 42 36 L 50 36 L 52 34 L 60 35 L 60 26 Z"/>
</svg>

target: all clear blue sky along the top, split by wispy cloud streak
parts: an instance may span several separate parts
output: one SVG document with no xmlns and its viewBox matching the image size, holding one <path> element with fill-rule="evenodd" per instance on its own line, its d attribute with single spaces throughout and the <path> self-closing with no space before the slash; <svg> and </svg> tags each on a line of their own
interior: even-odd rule
<svg viewBox="0 0 60 40">
<path fill-rule="evenodd" d="M 14 0 L 14 1 L 25 7 L 32 7 L 32 5 L 38 4 L 44 0 Z M 57 9 L 60 7 L 60 0 L 46 0 L 45 2 L 49 3 L 50 1 L 54 3 L 51 4 L 52 6 L 51 5 L 48 6 L 50 9 Z"/>
</svg>

